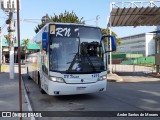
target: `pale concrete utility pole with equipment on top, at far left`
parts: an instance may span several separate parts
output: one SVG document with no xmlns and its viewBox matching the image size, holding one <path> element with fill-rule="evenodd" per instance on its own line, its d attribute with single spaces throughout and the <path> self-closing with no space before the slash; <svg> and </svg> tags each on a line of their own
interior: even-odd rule
<svg viewBox="0 0 160 120">
<path fill-rule="evenodd" d="M 1 9 L 9 14 L 6 24 L 9 24 L 9 54 L 10 54 L 10 79 L 14 79 L 14 20 L 13 13 L 16 11 L 16 1 L 15 0 L 0 0 Z"/>
</svg>

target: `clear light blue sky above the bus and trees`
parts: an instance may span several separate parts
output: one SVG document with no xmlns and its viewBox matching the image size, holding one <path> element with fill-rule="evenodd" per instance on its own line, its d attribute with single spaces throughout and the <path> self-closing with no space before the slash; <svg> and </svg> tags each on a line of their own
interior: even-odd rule
<svg viewBox="0 0 160 120">
<path fill-rule="evenodd" d="M 125 1 L 125 0 L 112 0 Z M 128 0 L 130 1 L 130 0 Z M 135 1 L 135 0 L 133 0 Z M 107 17 L 110 11 L 110 0 L 21 0 L 21 39 L 35 36 L 34 28 L 41 22 L 42 16 L 48 13 L 49 16 L 63 13 L 65 10 L 74 11 L 79 18 L 84 17 L 86 24 L 96 25 L 96 16 L 99 16 L 98 25 L 101 28 L 106 28 Z M 16 14 L 14 15 L 16 18 Z M 0 26 L 5 23 L 7 15 L 0 9 Z M 26 22 L 24 19 L 38 19 L 34 22 Z M 33 21 L 33 20 L 32 20 Z M 155 30 L 155 27 L 112 27 L 112 30 L 118 37 L 150 32 Z M 6 31 L 6 32 L 5 32 Z M 7 34 L 7 30 L 4 30 Z M 17 34 L 15 34 L 17 35 Z"/>
</svg>

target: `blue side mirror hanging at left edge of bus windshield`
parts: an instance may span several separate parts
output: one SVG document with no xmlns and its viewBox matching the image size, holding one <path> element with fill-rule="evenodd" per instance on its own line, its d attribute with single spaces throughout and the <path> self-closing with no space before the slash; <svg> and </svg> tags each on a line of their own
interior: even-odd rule
<svg viewBox="0 0 160 120">
<path fill-rule="evenodd" d="M 42 49 L 47 51 L 48 48 L 48 32 L 42 33 Z"/>
</svg>

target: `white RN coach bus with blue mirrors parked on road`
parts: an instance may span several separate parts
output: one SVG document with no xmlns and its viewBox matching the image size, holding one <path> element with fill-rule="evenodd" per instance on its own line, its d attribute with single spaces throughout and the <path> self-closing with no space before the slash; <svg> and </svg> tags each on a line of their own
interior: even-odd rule
<svg viewBox="0 0 160 120">
<path fill-rule="evenodd" d="M 105 38 L 98 27 L 73 23 L 48 23 L 34 37 L 40 52 L 28 55 L 27 74 L 48 95 L 106 91 Z M 111 51 L 109 51 L 111 52 Z"/>
</svg>

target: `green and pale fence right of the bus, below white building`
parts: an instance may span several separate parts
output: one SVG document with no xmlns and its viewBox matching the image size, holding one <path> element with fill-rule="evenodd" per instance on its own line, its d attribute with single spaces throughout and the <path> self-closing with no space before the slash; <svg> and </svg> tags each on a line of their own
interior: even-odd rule
<svg viewBox="0 0 160 120">
<path fill-rule="evenodd" d="M 112 58 L 113 72 L 139 74 L 153 73 L 156 71 L 155 56 L 145 57 L 142 54 L 114 54 Z"/>
</svg>

